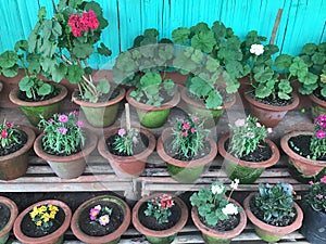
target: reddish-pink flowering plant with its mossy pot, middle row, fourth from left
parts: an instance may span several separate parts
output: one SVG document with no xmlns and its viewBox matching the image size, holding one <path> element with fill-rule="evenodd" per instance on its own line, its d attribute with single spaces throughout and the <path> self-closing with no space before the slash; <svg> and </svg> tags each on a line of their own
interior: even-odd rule
<svg viewBox="0 0 326 244">
<path fill-rule="evenodd" d="M 209 130 L 196 115 L 177 118 L 173 128 L 158 139 L 156 152 L 166 163 L 173 179 L 190 183 L 197 180 L 217 154 L 217 146 L 209 138 Z"/>
</svg>

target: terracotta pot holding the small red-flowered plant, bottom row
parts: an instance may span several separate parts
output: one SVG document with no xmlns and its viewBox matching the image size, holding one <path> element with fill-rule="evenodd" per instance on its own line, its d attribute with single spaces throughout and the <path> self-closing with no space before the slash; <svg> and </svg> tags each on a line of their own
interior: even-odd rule
<svg viewBox="0 0 326 244">
<path fill-rule="evenodd" d="M 139 219 L 139 209 L 143 204 L 147 204 L 148 201 L 153 200 L 158 196 L 161 196 L 162 193 L 155 193 L 149 196 L 142 197 L 137 202 L 133 208 L 133 224 L 141 234 L 146 235 L 147 240 L 150 243 L 155 244 L 168 244 L 174 241 L 177 233 L 185 227 L 188 219 L 188 208 L 187 205 L 177 196 L 172 196 L 174 204 L 179 206 L 181 213 L 180 218 L 177 220 L 176 224 L 166 230 L 152 230 L 143 226 Z"/>
</svg>

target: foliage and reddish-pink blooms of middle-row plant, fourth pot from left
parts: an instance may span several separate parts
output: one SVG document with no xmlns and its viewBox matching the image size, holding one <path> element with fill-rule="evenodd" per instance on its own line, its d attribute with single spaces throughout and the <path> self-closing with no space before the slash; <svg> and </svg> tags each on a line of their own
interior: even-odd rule
<svg viewBox="0 0 326 244">
<path fill-rule="evenodd" d="M 196 156 L 204 147 L 209 136 L 209 130 L 203 128 L 203 121 L 196 115 L 176 119 L 172 131 L 172 149 L 186 158 Z"/>
</svg>

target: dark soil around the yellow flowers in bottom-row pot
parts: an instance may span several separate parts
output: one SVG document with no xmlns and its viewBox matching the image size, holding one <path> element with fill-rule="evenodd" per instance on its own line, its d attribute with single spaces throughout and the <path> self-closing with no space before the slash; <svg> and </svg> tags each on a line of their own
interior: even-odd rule
<svg viewBox="0 0 326 244">
<path fill-rule="evenodd" d="M 22 220 L 22 223 L 21 223 L 22 232 L 29 237 L 41 237 L 41 236 L 53 233 L 62 226 L 62 223 L 64 222 L 64 219 L 65 219 L 65 214 L 62 210 L 62 208 L 61 207 L 58 207 L 58 208 L 59 208 L 59 211 L 55 215 L 55 219 L 53 220 L 53 226 L 50 228 L 50 230 L 42 231 L 42 230 L 38 229 L 37 226 L 35 224 L 35 222 L 32 221 L 32 219 L 29 217 L 29 213 L 28 213 L 27 215 L 24 216 L 24 218 Z"/>
</svg>

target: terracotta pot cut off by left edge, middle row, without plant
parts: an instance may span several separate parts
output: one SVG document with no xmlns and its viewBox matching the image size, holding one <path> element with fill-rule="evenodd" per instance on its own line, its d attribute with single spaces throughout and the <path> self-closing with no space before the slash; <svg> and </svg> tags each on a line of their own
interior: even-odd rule
<svg viewBox="0 0 326 244">
<path fill-rule="evenodd" d="M 25 175 L 28 167 L 28 152 L 35 141 L 35 132 L 26 126 L 17 126 L 27 136 L 27 142 L 18 151 L 0 156 L 0 180 L 13 180 Z"/>
</svg>

